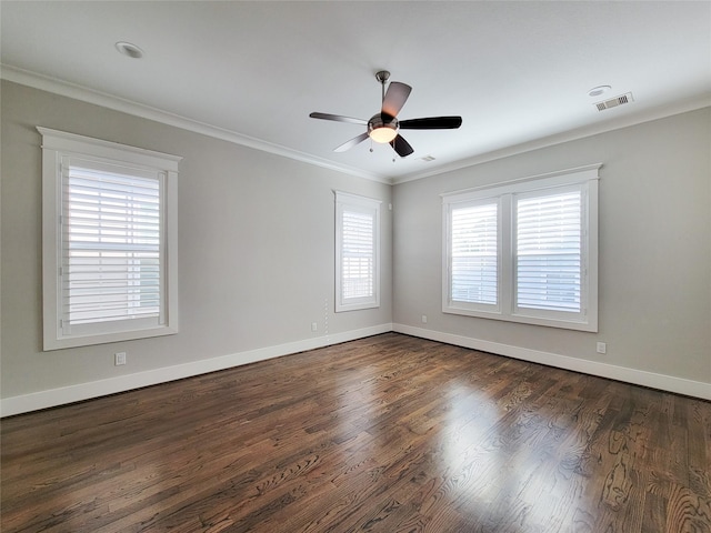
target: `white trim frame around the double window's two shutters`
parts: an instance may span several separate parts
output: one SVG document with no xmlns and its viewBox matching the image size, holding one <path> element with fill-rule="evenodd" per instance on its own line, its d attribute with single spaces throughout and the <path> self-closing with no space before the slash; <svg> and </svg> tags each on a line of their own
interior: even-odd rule
<svg viewBox="0 0 711 533">
<path fill-rule="evenodd" d="M 562 328 L 579 331 L 598 331 L 598 181 L 601 163 L 575 169 L 551 172 L 548 174 L 512 180 L 494 185 L 484 185 L 463 191 L 441 194 L 442 198 L 442 312 L 462 314 L 508 322 Z M 458 204 L 469 204 L 477 201 L 513 198 L 515 194 L 579 185 L 587 199 L 583 200 L 583 217 L 587 220 L 587 233 L 583 235 L 582 253 L 587 271 L 583 272 L 581 308 L 582 312 L 575 318 L 565 318 L 551 313 L 541 316 L 539 312 L 531 312 L 515 306 L 515 275 L 513 264 L 514 245 L 514 214 L 513 201 L 500 204 L 499 218 L 499 301 L 498 305 L 464 304 L 452 302 L 450 298 L 450 221 L 451 210 Z"/>
</svg>

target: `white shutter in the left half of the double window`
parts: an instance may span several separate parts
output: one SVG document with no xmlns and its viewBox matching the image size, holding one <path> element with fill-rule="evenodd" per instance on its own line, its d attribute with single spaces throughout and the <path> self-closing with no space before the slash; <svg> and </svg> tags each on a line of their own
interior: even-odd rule
<svg viewBox="0 0 711 533">
<path fill-rule="evenodd" d="M 498 203 L 451 212 L 451 300 L 497 305 Z"/>
</svg>

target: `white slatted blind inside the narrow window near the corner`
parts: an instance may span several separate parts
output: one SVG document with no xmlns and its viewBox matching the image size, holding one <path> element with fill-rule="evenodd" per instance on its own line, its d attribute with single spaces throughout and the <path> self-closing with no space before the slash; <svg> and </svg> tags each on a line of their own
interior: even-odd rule
<svg viewBox="0 0 711 533">
<path fill-rule="evenodd" d="M 343 300 L 374 293 L 374 220 L 358 211 L 343 211 L 341 244 Z"/>
</svg>

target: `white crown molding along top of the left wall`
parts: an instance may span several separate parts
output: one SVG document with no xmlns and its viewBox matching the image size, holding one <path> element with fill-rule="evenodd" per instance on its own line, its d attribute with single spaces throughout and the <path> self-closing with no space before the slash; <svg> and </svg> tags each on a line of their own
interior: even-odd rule
<svg viewBox="0 0 711 533">
<path fill-rule="evenodd" d="M 342 172 L 348 175 L 363 178 L 379 183 L 392 184 L 392 180 L 384 175 L 373 174 L 364 172 L 360 169 L 356 169 L 348 165 L 341 165 L 328 161 L 326 159 L 317 158 L 308 153 L 291 150 L 280 144 L 262 141 L 253 137 L 244 135 L 237 131 L 231 131 L 224 128 L 218 128 L 204 122 L 200 122 L 187 117 L 170 113 L 158 108 L 144 105 L 142 103 L 133 102 L 123 98 L 119 98 L 106 92 L 88 89 L 76 83 L 69 83 L 67 81 L 51 78 L 48 76 L 38 74 L 23 69 L 18 69 L 9 64 L 0 63 L 0 79 L 27 86 L 32 89 L 39 89 L 41 91 L 51 92 L 61 97 L 80 100 L 82 102 L 100 105 L 102 108 L 112 109 L 113 111 L 120 111 L 122 113 L 140 117 L 142 119 L 153 120 L 167 125 L 180 128 L 182 130 L 192 131 L 202 135 L 212 137 L 222 141 L 240 144 L 242 147 L 252 148 L 254 150 L 261 150 L 263 152 L 273 153 L 283 158 L 300 161 L 302 163 L 313 164 L 337 172 Z"/>
</svg>

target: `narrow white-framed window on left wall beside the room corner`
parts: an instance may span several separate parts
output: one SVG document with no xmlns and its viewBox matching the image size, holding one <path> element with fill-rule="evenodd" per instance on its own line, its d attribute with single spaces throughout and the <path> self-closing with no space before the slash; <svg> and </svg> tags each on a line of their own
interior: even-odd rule
<svg viewBox="0 0 711 533">
<path fill-rule="evenodd" d="M 380 306 L 380 201 L 336 193 L 336 312 Z"/>
</svg>

